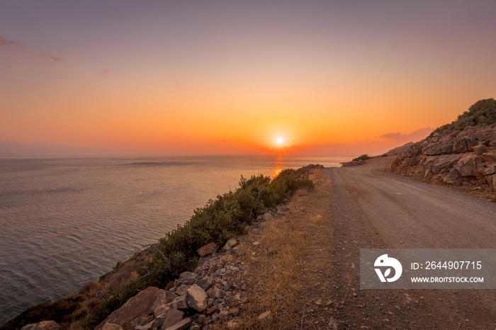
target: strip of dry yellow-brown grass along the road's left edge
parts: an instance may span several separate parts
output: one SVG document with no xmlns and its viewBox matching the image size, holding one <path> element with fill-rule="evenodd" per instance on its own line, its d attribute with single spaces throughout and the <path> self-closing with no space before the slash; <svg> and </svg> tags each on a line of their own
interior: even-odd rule
<svg viewBox="0 0 496 330">
<path fill-rule="evenodd" d="M 312 303 L 323 300 L 323 309 L 327 301 L 315 297 L 313 288 L 325 283 L 329 271 L 330 210 L 325 198 L 329 181 L 320 171 L 312 181 L 315 189 L 298 190 L 288 203 L 291 214 L 265 222 L 261 234 L 240 238 L 242 260 L 248 267 L 237 282 L 247 285 L 244 295 L 249 302 L 237 319 L 237 329 L 264 329 L 258 316 L 266 310 L 274 313 L 270 329 L 309 329 L 315 322 L 322 325 L 315 319 Z"/>
</svg>

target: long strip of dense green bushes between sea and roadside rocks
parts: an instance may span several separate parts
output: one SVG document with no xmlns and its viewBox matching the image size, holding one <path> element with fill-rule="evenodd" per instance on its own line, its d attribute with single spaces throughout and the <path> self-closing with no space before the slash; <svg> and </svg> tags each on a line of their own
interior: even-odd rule
<svg viewBox="0 0 496 330">
<path fill-rule="evenodd" d="M 139 290 L 152 285 L 164 288 L 180 273 L 193 270 L 198 262 L 196 251 L 201 246 L 210 242 L 222 246 L 251 224 L 264 207 L 283 203 L 298 188 L 312 187 L 313 183 L 305 169 L 286 169 L 272 181 L 263 175 L 249 179 L 242 176 L 237 190 L 209 200 L 205 207 L 194 211 L 186 224 L 159 239 L 156 248 L 159 251 L 154 254 L 152 261 L 137 269 L 141 279 L 103 302 L 85 320 L 84 328 L 94 329 Z"/>
</svg>

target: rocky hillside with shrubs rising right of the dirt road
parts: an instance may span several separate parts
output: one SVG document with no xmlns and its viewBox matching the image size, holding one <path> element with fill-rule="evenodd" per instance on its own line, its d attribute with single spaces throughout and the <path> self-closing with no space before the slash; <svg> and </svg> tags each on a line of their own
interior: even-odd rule
<svg viewBox="0 0 496 330">
<path fill-rule="evenodd" d="M 496 101 L 480 100 L 451 124 L 412 144 L 391 169 L 424 181 L 480 187 L 496 186 Z"/>
</svg>

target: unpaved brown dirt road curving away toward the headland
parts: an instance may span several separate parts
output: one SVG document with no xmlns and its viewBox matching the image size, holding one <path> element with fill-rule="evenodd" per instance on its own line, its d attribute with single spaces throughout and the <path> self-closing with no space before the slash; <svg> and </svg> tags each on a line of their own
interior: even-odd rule
<svg viewBox="0 0 496 330">
<path fill-rule="evenodd" d="M 330 178 L 333 319 L 338 329 L 496 329 L 496 290 L 360 290 L 360 249 L 496 249 L 496 203 L 381 171 Z"/>
</svg>

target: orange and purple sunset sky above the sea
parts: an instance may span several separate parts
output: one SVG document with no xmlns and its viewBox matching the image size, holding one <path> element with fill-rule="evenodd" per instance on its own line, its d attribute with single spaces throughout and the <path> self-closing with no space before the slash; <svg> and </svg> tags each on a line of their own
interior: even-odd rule
<svg viewBox="0 0 496 330">
<path fill-rule="evenodd" d="M 492 0 L 2 1 L 0 141 L 381 154 L 495 97 L 495 12 Z"/>
</svg>

